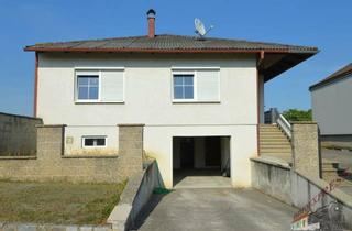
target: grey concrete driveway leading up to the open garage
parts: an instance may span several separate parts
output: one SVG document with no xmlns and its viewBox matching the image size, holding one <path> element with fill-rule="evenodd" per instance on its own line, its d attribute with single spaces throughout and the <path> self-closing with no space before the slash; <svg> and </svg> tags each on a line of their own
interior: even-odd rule
<svg viewBox="0 0 352 231">
<path fill-rule="evenodd" d="M 183 188 L 154 195 L 139 230 L 283 231 L 295 211 L 254 189 Z"/>
</svg>

